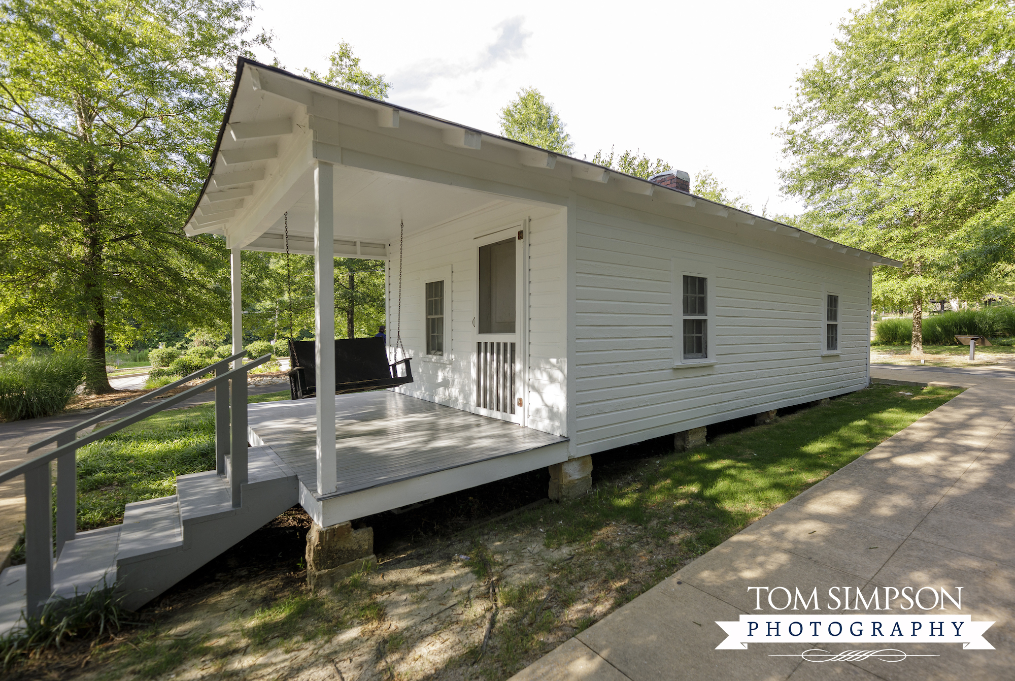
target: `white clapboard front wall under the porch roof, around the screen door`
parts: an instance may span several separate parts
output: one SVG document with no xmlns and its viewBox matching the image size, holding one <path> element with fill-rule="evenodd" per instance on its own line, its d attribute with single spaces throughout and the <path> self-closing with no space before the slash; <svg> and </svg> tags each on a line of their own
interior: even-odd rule
<svg viewBox="0 0 1015 681">
<path fill-rule="evenodd" d="M 414 382 L 400 392 L 464 411 L 475 407 L 476 255 L 474 238 L 530 220 L 529 239 L 529 356 L 526 387 L 521 393 L 528 410 L 527 425 L 536 430 L 565 434 L 565 293 L 566 215 L 558 208 L 533 208 L 507 201 L 439 226 L 406 236 L 403 250 L 402 343 L 412 358 Z M 392 244 L 389 262 L 388 336 L 397 333 L 398 244 Z M 425 356 L 425 284 L 422 275 L 452 268 L 445 284 L 445 357 Z M 524 323 L 524 320 L 520 320 Z"/>
</svg>

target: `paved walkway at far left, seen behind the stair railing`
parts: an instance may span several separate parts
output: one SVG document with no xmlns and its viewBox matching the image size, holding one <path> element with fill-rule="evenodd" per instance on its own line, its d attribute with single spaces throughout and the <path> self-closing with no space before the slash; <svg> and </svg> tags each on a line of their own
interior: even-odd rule
<svg viewBox="0 0 1015 681">
<path fill-rule="evenodd" d="M 142 382 L 144 377 L 141 377 Z M 136 378 L 117 378 L 110 382 L 118 389 L 129 389 L 130 381 Z M 285 389 L 285 385 L 248 385 L 248 394 L 263 394 L 267 392 L 277 392 Z M 175 409 L 184 409 L 214 398 L 211 391 L 195 395 L 190 399 L 181 403 Z M 129 416 L 136 412 L 150 407 L 152 403 L 143 403 L 136 409 L 125 412 L 122 416 Z M 27 460 L 29 456 L 38 456 L 52 449 L 50 445 L 44 449 L 33 451 L 28 454 L 28 446 L 47 435 L 52 435 L 65 428 L 69 428 L 76 423 L 99 413 L 100 410 L 89 410 L 86 412 L 75 412 L 74 414 L 60 414 L 57 416 L 45 417 L 42 419 L 26 419 L 24 421 L 12 421 L 10 423 L 0 423 L 0 471 L 6 471 L 18 463 Z M 7 557 L 14 547 L 18 536 L 21 534 L 24 522 L 24 483 L 21 477 L 0 483 L 0 568 L 6 566 Z"/>
</svg>

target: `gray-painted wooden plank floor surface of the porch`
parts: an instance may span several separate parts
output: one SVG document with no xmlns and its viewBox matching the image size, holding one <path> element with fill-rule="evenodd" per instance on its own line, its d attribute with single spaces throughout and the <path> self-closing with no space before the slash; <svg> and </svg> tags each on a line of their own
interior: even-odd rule
<svg viewBox="0 0 1015 681">
<path fill-rule="evenodd" d="M 313 399 L 251 405 L 250 429 L 317 490 Z M 335 396 L 337 496 L 529 451 L 567 438 L 408 395 Z"/>
</svg>

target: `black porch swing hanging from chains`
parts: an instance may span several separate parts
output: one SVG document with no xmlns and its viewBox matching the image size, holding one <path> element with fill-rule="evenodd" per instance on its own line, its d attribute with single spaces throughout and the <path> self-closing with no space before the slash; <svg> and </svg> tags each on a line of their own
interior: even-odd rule
<svg viewBox="0 0 1015 681">
<path fill-rule="evenodd" d="M 412 382 L 412 368 L 402 348 L 402 241 L 405 223 L 402 223 L 398 253 L 398 329 L 395 356 L 401 348 L 402 357 L 388 362 L 385 339 L 336 338 L 335 339 L 335 393 L 364 392 L 389 388 Z M 317 395 L 317 349 L 315 340 L 292 339 L 292 278 L 289 266 L 289 213 L 285 213 L 285 273 L 289 298 L 289 392 L 292 399 Z M 398 375 L 398 365 L 405 365 L 405 376 Z"/>
</svg>

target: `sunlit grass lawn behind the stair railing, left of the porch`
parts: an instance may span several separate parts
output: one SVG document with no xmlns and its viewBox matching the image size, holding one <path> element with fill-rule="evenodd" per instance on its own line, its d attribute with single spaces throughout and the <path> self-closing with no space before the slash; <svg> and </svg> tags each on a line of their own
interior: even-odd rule
<svg viewBox="0 0 1015 681">
<path fill-rule="evenodd" d="M 288 398 L 288 390 L 281 390 L 251 395 L 248 401 Z M 128 426 L 78 450 L 77 529 L 121 522 L 125 504 L 172 496 L 177 476 L 214 468 L 211 405 L 162 412 Z"/>
</svg>

